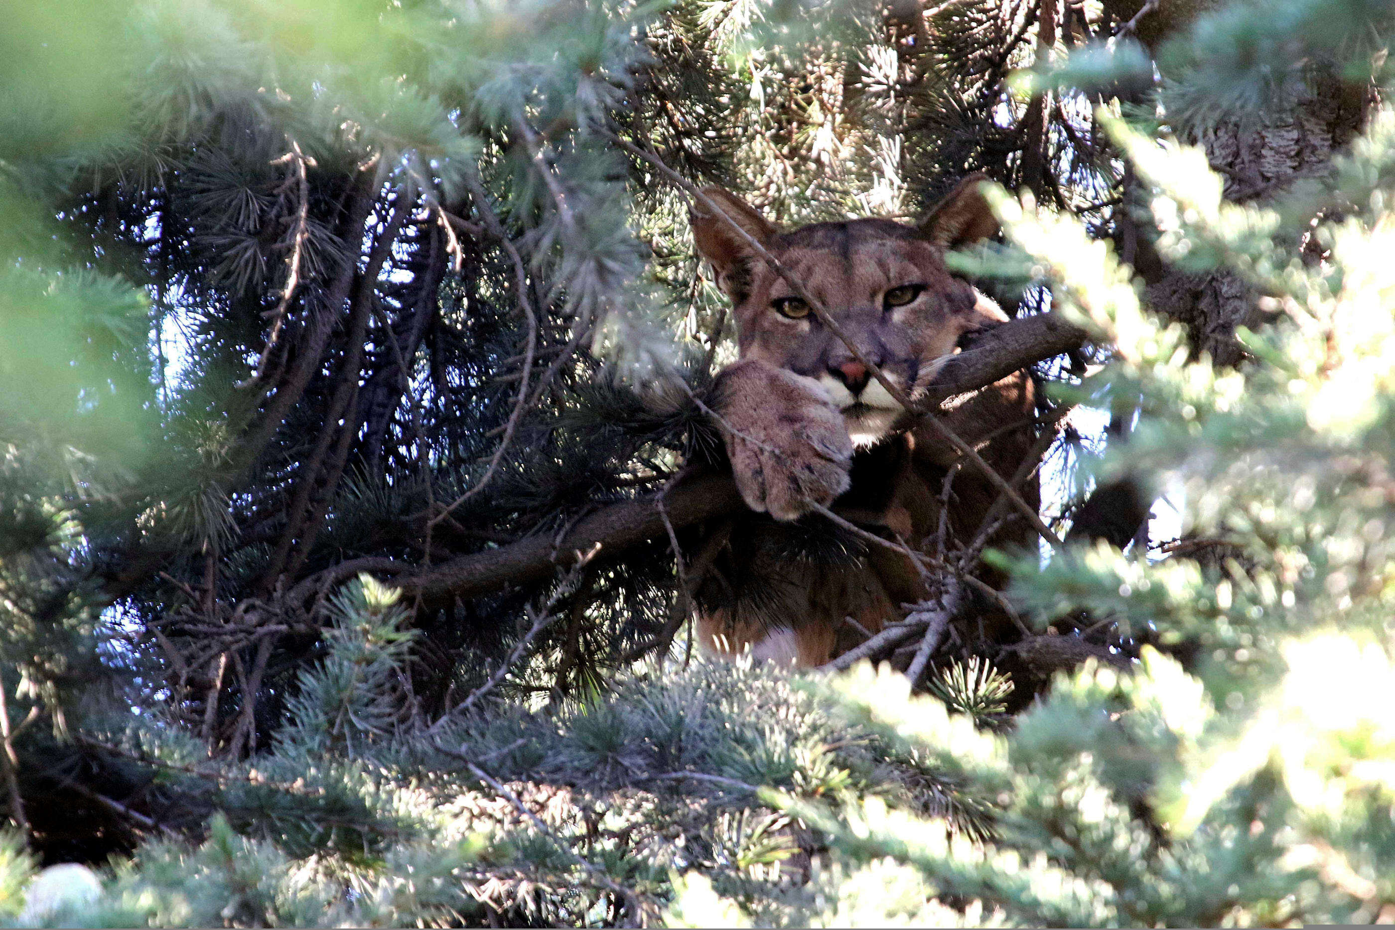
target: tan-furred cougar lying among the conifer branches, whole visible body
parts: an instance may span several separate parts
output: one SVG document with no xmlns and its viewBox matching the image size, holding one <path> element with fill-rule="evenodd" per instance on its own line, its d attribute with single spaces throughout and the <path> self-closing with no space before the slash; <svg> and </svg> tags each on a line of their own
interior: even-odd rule
<svg viewBox="0 0 1395 930">
<path fill-rule="evenodd" d="M 734 194 L 706 192 L 915 399 L 961 336 L 1006 319 L 944 268 L 946 248 L 996 230 L 978 180 L 961 184 L 919 229 L 872 219 L 781 233 Z M 858 379 L 859 365 L 847 346 L 813 314 L 790 319 L 777 311 L 792 289 L 723 218 L 698 205 L 692 223 L 738 323 L 739 361 L 721 372 L 717 404 L 732 474 L 752 510 L 781 521 L 752 517 L 734 531 L 725 572 L 741 580 L 731 581 L 717 566 L 698 634 L 721 654 L 751 648 L 757 658 L 778 660 L 794 653 L 801 666 L 820 665 L 861 640 L 844 618 L 876 633 L 904 613 L 901 604 L 926 591 L 910 561 L 883 547 L 845 559 L 791 556 L 791 547 L 798 551 L 797 528 L 783 524 L 813 503 L 837 501 L 834 510 L 845 519 L 925 548 L 942 521 L 939 498 L 956 453 L 925 428 L 898 429 L 905 421 L 901 406 L 875 379 Z M 922 290 L 905 305 L 890 305 L 887 291 L 903 286 Z M 1000 427 L 1031 417 L 1031 388 L 1024 374 L 1013 375 L 958 399 L 943 420 L 979 446 L 989 464 L 1011 475 L 1032 445 L 1032 431 L 1025 424 Z M 996 489 L 971 468 L 956 474 L 953 489 L 944 520 L 954 538 L 968 541 Z M 1035 482 L 1025 496 L 1035 503 Z M 1028 540 L 1011 528 L 993 542 Z M 1002 583 L 992 572 L 983 577 Z"/>
</svg>

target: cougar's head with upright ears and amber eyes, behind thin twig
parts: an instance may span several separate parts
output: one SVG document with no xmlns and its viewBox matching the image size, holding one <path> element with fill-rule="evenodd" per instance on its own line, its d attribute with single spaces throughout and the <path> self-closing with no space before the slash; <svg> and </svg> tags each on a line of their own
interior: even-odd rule
<svg viewBox="0 0 1395 930">
<path fill-rule="evenodd" d="M 692 208 L 693 238 L 735 308 L 741 357 L 817 381 L 843 411 L 855 443 L 879 441 L 891 431 L 901 404 L 732 222 L 792 272 L 864 358 L 915 400 L 961 335 L 989 319 L 1006 319 L 996 304 L 944 266 L 946 250 L 997 231 L 978 190 L 983 180 L 975 174 L 961 181 L 919 226 L 855 219 L 790 231 L 735 194 L 703 188 L 711 204 L 699 199 Z"/>
</svg>

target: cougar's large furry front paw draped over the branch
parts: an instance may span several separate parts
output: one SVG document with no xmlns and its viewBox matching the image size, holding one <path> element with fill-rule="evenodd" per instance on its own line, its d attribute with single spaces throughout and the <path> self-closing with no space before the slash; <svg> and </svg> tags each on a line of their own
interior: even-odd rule
<svg viewBox="0 0 1395 930">
<path fill-rule="evenodd" d="M 752 510 L 795 520 L 848 489 L 852 439 L 812 378 L 745 361 L 723 372 L 721 431 Z"/>
</svg>

